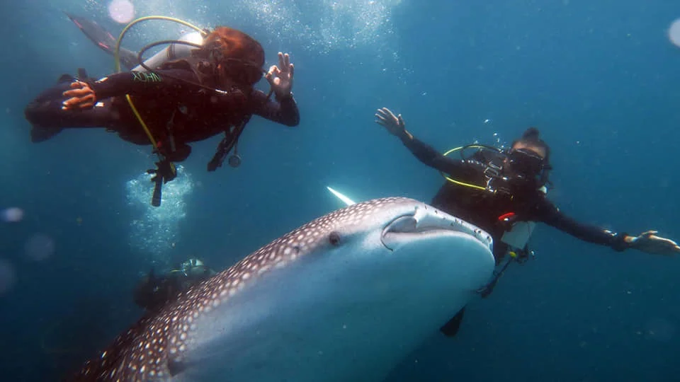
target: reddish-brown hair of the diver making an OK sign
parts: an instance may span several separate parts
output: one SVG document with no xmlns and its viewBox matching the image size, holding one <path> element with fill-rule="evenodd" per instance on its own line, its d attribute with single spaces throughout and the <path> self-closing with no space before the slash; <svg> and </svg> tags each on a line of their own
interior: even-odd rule
<svg viewBox="0 0 680 382">
<path fill-rule="evenodd" d="M 222 57 L 241 59 L 258 67 L 264 66 L 264 50 L 257 40 L 246 33 L 229 27 L 217 27 L 208 37 L 204 46 L 209 50 L 218 50 Z"/>
</svg>

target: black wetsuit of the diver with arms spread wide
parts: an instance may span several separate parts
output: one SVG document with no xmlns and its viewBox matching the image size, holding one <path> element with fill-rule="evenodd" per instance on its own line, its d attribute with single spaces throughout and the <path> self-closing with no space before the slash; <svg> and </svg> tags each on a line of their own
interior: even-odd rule
<svg viewBox="0 0 680 382">
<path fill-rule="evenodd" d="M 419 141 L 419 139 L 411 138 L 407 134 L 404 134 L 401 139 L 414 156 L 427 166 L 436 168 L 450 175 L 451 178 L 464 183 L 486 184 L 485 169 L 487 163 L 482 158 L 475 157 L 465 160 L 451 158 L 440 154 L 428 144 Z M 501 241 L 508 227 L 502 221 L 499 221 L 499 217 L 509 213 L 514 213 L 517 221 L 542 222 L 589 243 L 608 245 L 617 251 L 628 248 L 628 244 L 623 240 L 626 233 L 613 233 L 597 226 L 575 221 L 562 214 L 560 209 L 553 202 L 550 202 L 543 192 L 536 190 L 536 187 L 523 188 L 523 192 L 497 192 L 492 194 L 485 190 L 455 185 L 447 181 L 433 197 L 431 205 L 443 212 L 475 224 L 490 233 L 494 240 L 494 257 L 497 264 L 501 262 L 508 250 L 508 245 Z M 482 296 L 488 296 L 491 293 L 495 281 L 497 279 L 489 284 L 487 291 Z M 441 332 L 453 337 L 458 332 L 463 313 L 465 313 L 465 308 L 461 309 L 446 325 L 443 325 Z"/>
</svg>

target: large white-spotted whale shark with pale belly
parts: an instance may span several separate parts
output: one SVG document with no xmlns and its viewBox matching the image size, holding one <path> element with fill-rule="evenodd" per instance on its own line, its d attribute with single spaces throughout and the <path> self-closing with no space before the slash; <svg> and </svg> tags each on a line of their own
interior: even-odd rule
<svg viewBox="0 0 680 382">
<path fill-rule="evenodd" d="M 488 233 L 414 199 L 314 219 L 142 318 L 74 381 L 382 381 L 491 277 Z"/>
</svg>

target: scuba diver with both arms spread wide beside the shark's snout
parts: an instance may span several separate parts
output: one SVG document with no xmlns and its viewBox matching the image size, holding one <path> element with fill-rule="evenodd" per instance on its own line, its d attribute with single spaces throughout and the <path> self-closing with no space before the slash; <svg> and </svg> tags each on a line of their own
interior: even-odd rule
<svg viewBox="0 0 680 382">
<path fill-rule="evenodd" d="M 527 243 L 536 222 L 619 252 L 633 248 L 659 255 L 680 253 L 679 245 L 657 236 L 657 231 L 630 236 L 579 223 L 560 212 L 546 197 L 552 169 L 550 147 L 534 127 L 512 142 L 508 150 L 472 144 L 440 154 L 407 131 L 402 115 L 395 116 L 382 108 L 375 117 L 375 122 L 401 139 L 419 161 L 439 170 L 448 180 L 433 197 L 431 205 L 491 234 L 498 269 L 487 286 L 477 291 L 482 298 L 491 294 L 511 261 L 522 263 L 533 255 Z M 475 149 L 475 153 L 466 157 L 465 149 Z M 460 158 L 448 156 L 454 151 L 460 151 Z M 504 264 L 503 260 L 506 260 Z M 448 337 L 455 336 L 464 313 L 465 307 L 440 331 Z"/>
</svg>

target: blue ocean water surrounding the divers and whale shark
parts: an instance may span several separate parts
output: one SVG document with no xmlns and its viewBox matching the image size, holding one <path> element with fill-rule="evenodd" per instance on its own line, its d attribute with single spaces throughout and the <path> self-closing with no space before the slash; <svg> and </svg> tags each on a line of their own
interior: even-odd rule
<svg viewBox="0 0 680 382">
<path fill-rule="evenodd" d="M 373 123 L 388 107 L 444 151 L 507 144 L 528 126 L 553 149 L 550 197 L 579 221 L 680 238 L 676 142 L 680 48 L 674 1 L 132 1 L 135 17 L 230 25 L 295 64 L 298 127 L 254 117 L 242 166 L 205 170 L 219 138 L 193 145 L 164 205 L 148 204 L 147 146 L 101 129 L 31 144 L 23 108 L 78 67 L 113 59 L 63 11 L 114 34 L 108 1 L 0 6 L 0 370 L 56 380 L 140 314 L 142 272 L 200 256 L 222 269 L 354 199 L 429 201 L 443 179 Z M 126 46 L 176 37 L 148 23 Z M 264 88 L 264 81 L 261 84 Z M 4 112 L 3 112 L 4 110 Z M 467 309 L 455 338 L 433 332 L 389 381 L 677 381 L 675 258 L 616 253 L 538 226 L 536 260 L 510 267 Z"/>
</svg>

